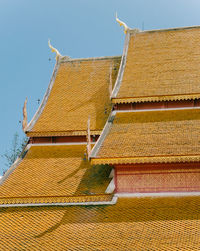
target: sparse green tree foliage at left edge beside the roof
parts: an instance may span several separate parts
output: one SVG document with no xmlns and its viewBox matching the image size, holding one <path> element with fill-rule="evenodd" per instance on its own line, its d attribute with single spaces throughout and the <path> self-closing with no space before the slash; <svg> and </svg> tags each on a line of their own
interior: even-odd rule
<svg viewBox="0 0 200 251">
<path fill-rule="evenodd" d="M 6 167 L 10 167 L 15 162 L 17 157 L 20 156 L 27 142 L 27 137 L 24 137 L 22 140 L 20 140 L 18 133 L 14 134 L 10 149 L 1 155 L 5 159 Z"/>
</svg>

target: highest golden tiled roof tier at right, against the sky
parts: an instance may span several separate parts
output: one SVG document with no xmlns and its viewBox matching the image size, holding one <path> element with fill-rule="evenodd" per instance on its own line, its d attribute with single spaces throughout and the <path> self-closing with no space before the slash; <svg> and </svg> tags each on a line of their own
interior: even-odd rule
<svg viewBox="0 0 200 251">
<path fill-rule="evenodd" d="M 113 103 L 200 97 L 200 27 L 129 30 Z"/>
</svg>

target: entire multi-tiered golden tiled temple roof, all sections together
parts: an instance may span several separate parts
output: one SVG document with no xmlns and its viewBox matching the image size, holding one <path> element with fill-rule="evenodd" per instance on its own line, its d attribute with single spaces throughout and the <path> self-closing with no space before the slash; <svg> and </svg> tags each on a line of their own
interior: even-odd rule
<svg viewBox="0 0 200 251">
<path fill-rule="evenodd" d="M 127 28 L 122 59 L 57 55 L 26 133 L 85 136 L 90 117 L 91 135 L 105 125 L 90 156 L 104 165 L 87 160 L 86 142 L 29 145 L 1 179 L 0 249 L 199 250 L 199 196 L 107 194 L 113 164 L 199 162 L 199 109 L 112 111 L 115 103 L 200 98 L 199 35 L 199 27 Z"/>
</svg>

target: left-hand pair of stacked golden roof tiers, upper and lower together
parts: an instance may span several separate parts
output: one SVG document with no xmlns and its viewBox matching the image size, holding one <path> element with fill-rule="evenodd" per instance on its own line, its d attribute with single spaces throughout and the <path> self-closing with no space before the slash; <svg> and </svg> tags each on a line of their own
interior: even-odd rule
<svg viewBox="0 0 200 251">
<path fill-rule="evenodd" d="M 99 135 L 111 111 L 120 56 L 57 58 L 47 92 L 26 128 L 31 137 Z M 89 136 L 88 136 L 89 137 Z M 108 170 L 91 166 L 85 142 L 29 145 L 1 180 L 0 206 L 113 203 Z M 77 142 L 76 142 L 77 141 Z M 82 140 L 83 141 L 83 140 Z"/>
</svg>

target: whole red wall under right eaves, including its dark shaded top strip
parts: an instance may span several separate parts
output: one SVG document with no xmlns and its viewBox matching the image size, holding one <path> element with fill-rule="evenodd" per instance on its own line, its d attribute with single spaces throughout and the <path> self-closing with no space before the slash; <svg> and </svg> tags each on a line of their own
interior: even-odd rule
<svg viewBox="0 0 200 251">
<path fill-rule="evenodd" d="M 150 165 L 143 167 L 115 166 L 116 192 L 153 193 L 200 191 L 200 164 L 186 163 L 168 168 Z"/>
</svg>

